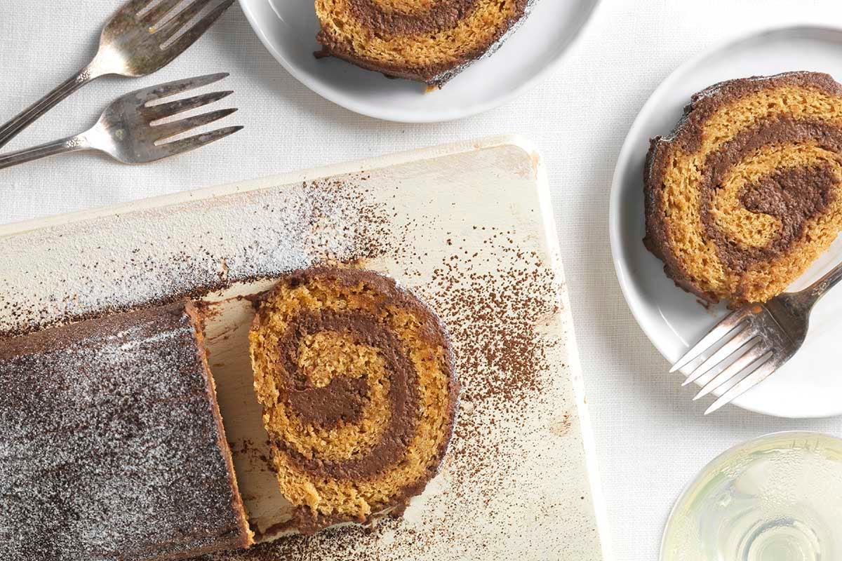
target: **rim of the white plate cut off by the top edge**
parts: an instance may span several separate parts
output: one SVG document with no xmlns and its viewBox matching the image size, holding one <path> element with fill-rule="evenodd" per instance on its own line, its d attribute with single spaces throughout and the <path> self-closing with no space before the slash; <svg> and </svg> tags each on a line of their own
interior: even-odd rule
<svg viewBox="0 0 842 561">
<path fill-rule="evenodd" d="M 498 96 L 497 98 L 493 98 L 492 100 L 485 103 L 475 103 L 465 107 L 455 109 L 451 108 L 447 111 L 440 110 L 436 113 L 418 115 L 399 113 L 390 110 L 372 110 L 367 108 L 363 104 L 355 103 L 353 101 L 353 98 L 351 98 L 350 101 L 348 98 L 340 99 L 339 96 L 335 95 L 330 88 L 320 86 L 315 80 L 312 80 L 312 78 L 309 77 L 309 75 L 306 72 L 301 71 L 300 69 L 296 68 L 295 65 L 291 64 L 290 61 L 288 61 L 287 58 L 282 53 L 280 53 L 279 50 L 275 49 L 273 43 L 269 40 L 266 34 L 264 34 L 260 30 L 257 17 L 255 16 L 251 8 L 251 3 L 255 1 L 268 2 L 269 0 L 239 0 L 242 13 L 245 14 L 246 19 L 248 20 L 248 24 L 253 29 L 254 34 L 258 36 L 258 39 L 261 43 L 263 43 L 266 50 L 269 50 L 269 54 L 271 54 L 274 57 L 275 61 L 278 61 L 280 63 L 280 66 L 283 66 L 284 69 L 292 75 L 292 77 L 296 78 L 298 82 L 301 82 L 301 84 L 310 89 L 313 93 L 316 93 L 322 98 L 327 99 L 329 102 L 334 103 L 339 107 L 348 109 L 349 111 L 352 111 L 356 114 L 365 115 L 366 117 L 370 117 L 371 119 L 379 119 L 383 121 L 392 121 L 394 123 L 406 124 L 445 123 L 449 121 L 465 119 L 467 117 L 472 117 L 473 115 L 485 113 L 493 108 L 498 108 L 501 105 L 509 103 L 510 101 L 513 101 L 516 98 L 520 98 L 520 96 L 529 92 L 532 88 L 536 87 L 539 83 L 543 82 L 543 80 L 552 71 L 554 71 L 557 68 L 557 66 L 560 65 L 561 61 L 568 54 L 568 51 L 587 32 L 591 24 L 593 24 L 595 19 L 594 15 L 596 14 L 597 9 L 603 5 L 602 0 L 585 0 L 589 3 L 589 6 L 586 10 L 584 10 L 584 13 L 582 13 L 578 17 L 578 21 L 573 27 L 573 34 L 571 34 L 567 40 L 564 40 L 562 42 L 562 45 L 557 51 L 557 53 L 554 56 L 552 56 L 551 59 L 546 61 L 546 64 L 541 67 L 541 70 L 537 71 L 528 80 L 525 80 L 523 83 L 521 83 L 520 86 L 515 87 L 508 93 L 505 93 L 502 96 Z"/>
</svg>

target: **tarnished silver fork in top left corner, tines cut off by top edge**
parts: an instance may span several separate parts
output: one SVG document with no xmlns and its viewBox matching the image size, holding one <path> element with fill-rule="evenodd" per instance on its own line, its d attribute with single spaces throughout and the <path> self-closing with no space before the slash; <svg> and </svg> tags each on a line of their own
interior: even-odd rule
<svg viewBox="0 0 842 561">
<path fill-rule="evenodd" d="M 138 16 L 156 0 L 131 0 L 111 17 L 105 24 L 99 38 L 99 50 L 88 66 L 78 71 L 51 93 L 38 102 L 24 109 L 23 113 L 0 126 L 0 147 L 12 140 L 21 130 L 39 119 L 61 100 L 96 78 L 109 74 L 125 77 L 147 76 L 167 66 L 218 19 L 234 0 L 225 0 L 207 13 L 189 29 L 186 25 L 197 16 L 212 0 L 193 0 L 173 18 L 156 27 L 164 16 L 183 0 L 163 0 Z M 167 44 L 177 34 L 184 31 L 178 39 Z M 165 46 L 166 45 L 166 46 Z"/>
</svg>

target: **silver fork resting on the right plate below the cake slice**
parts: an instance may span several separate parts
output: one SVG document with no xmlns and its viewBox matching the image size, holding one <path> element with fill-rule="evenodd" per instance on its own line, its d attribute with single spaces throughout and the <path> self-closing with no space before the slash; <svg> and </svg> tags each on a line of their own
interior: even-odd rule
<svg viewBox="0 0 842 561">
<path fill-rule="evenodd" d="M 669 372 L 676 372 L 702 358 L 703 362 L 688 372 L 684 382 L 687 385 L 727 364 L 693 398 L 698 400 L 728 382 L 738 380 L 705 411 L 705 415 L 720 409 L 769 378 L 801 348 L 807 337 L 813 306 L 839 280 L 842 280 L 842 264 L 801 292 L 779 294 L 765 304 L 749 304 L 733 311 L 690 347 Z M 705 357 L 706 351 L 727 336 L 732 338 Z M 732 358 L 732 362 L 726 363 Z"/>
</svg>

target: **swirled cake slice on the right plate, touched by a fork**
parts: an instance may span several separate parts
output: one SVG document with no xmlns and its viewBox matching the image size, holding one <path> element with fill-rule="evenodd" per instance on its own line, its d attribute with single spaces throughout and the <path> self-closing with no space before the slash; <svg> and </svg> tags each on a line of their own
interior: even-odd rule
<svg viewBox="0 0 842 561">
<path fill-rule="evenodd" d="M 787 72 L 695 94 L 647 156 L 645 243 L 732 305 L 783 292 L 842 230 L 842 86 Z"/>
</svg>

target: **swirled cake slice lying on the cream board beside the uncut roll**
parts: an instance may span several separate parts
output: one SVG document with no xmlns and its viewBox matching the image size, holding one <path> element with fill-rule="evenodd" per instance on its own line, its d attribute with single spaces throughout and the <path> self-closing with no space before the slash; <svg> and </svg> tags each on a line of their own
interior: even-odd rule
<svg viewBox="0 0 842 561">
<path fill-rule="evenodd" d="M 292 273 L 264 296 L 249 339 L 290 527 L 371 521 L 424 490 L 458 384 L 445 330 L 418 298 L 377 273 Z"/>
</svg>

